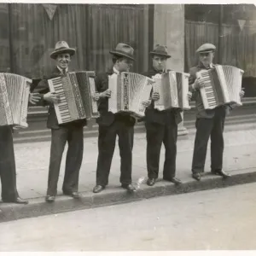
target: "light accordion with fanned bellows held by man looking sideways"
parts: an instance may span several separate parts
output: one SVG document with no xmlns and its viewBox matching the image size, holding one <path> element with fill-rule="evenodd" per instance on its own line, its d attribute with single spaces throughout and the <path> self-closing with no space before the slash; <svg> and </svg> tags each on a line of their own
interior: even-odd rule
<svg viewBox="0 0 256 256">
<path fill-rule="evenodd" d="M 153 79 L 138 73 L 113 73 L 108 76 L 108 89 L 112 91 L 108 99 L 108 111 L 127 112 L 135 118 L 145 115 L 142 102 L 147 101 L 152 90 Z"/>
</svg>

